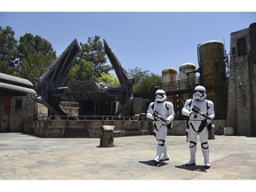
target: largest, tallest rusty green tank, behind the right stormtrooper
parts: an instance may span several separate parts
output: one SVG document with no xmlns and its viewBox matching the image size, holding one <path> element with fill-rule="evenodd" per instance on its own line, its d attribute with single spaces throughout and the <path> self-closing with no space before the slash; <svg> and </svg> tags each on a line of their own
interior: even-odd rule
<svg viewBox="0 0 256 192">
<path fill-rule="evenodd" d="M 224 44 L 215 40 L 198 44 L 197 53 L 200 84 L 206 88 L 206 99 L 213 101 L 216 118 L 225 118 L 228 92 Z"/>
</svg>

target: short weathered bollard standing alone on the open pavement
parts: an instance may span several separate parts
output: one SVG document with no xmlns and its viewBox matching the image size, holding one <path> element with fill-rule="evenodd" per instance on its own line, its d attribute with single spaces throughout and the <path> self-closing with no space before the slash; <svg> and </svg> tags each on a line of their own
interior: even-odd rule
<svg viewBox="0 0 256 192">
<path fill-rule="evenodd" d="M 101 125 L 100 126 L 100 147 L 111 148 L 114 147 L 114 129 L 115 125 Z"/>
</svg>

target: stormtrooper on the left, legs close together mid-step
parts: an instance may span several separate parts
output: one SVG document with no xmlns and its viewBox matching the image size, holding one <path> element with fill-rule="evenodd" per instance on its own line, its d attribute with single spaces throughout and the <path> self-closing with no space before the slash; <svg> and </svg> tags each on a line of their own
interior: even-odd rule
<svg viewBox="0 0 256 192">
<path fill-rule="evenodd" d="M 167 136 L 167 126 L 170 127 L 175 114 L 172 102 L 166 101 L 166 99 L 167 98 L 164 90 L 157 90 L 155 102 L 151 102 L 149 104 L 147 111 L 148 119 L 153 120 L 155 127 L 154 132 L 158 142 L 156 148 L 156 157 L 153 159 L 155 164 L 160 164 L 160 161 L 169 160 L 165 140 Z"/>
</svg>

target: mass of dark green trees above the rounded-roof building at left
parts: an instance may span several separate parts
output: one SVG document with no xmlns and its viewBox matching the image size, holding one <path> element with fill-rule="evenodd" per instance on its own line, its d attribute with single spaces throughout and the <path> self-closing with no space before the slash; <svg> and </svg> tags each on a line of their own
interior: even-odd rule
<svg viewBox="0 0 256 192">
<path fill-rule="evenodd" d="M 0 27 L 0 70 L 13 76 L 20 76 L 33 82 L 41 76 L 56 59 L 52 44 L 41 36 L 25 34 L 19 42 L 11 27 Z"/>
</svg>

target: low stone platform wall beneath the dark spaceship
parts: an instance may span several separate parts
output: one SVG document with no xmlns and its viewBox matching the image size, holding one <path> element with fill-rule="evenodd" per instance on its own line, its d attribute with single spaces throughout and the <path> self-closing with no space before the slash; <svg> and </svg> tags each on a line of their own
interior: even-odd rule
<svg viewBox="0 0 256 192">
<path fill-rule="evenodd" d="M 223 134 L 225 120 L 213 120 L 213 132 Z M 88 137 L 100 138 L 102 125 L 115 125 L 114 136 L 135 136 L 153 134 L 154 126 L 149 120 L 27 120 L 24 133 L 39 137 Z M 172 122 L 168 135 L 186 135 L 186 120 Z M 215 134 L 214 133 L 214 134 Z"/>
</svg>

